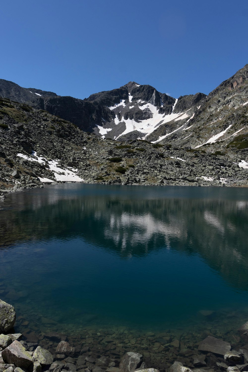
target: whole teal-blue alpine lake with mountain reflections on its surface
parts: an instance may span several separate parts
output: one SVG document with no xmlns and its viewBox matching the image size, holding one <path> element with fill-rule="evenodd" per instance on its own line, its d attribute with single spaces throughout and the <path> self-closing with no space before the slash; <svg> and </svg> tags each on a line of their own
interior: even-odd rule
<svg viewBox="0 0 248 372">
<path fill-rule="evenodd" d="M 225 338 L 248 320 L 247 225 L 245 188 L 16 192 L 0 204 L 0 298 L 15 306 L 20 332 Z"/>
</svg>

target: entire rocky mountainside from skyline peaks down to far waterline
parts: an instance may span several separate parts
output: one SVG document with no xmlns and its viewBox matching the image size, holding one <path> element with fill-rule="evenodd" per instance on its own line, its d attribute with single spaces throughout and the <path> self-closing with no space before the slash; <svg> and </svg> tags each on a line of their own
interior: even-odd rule
<svg viewBox="0 0 248 372">
<path fill-rule="evenodd" d="M 129 82 L 84 100 L 0 80 L 0 200 L 51 182 L 248 185 L 248 65 L 208 95 Z"/>
</svg>

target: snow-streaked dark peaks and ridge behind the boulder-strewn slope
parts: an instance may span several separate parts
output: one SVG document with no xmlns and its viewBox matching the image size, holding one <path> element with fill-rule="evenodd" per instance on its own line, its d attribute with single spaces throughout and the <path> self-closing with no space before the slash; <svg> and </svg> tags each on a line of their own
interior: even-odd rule
<svg viewBox="0 0 248 372">
<path fill-rule="evenodd" d="M 194 148 L 245 131 L 248 64 L 208 95 L 196 93 L 178 99 L 134 81 L 81 100 L 0 79 L 0 96 L 46 110 L 103 138 L 172 142 Z"/>
</svg>

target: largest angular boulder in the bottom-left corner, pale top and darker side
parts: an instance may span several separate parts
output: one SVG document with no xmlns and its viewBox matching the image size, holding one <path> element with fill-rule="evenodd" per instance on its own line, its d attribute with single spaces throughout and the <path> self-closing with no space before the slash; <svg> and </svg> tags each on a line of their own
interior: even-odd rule
<svg viewBox="0 0 248 372">
<path fill-rule="evenodd" d="M 9 364 L 15 364 L 16 367 L 28 368 L 32 363 L 32 356 L 17 340 L 2 351 L 2 358 Z"/>
</svg>

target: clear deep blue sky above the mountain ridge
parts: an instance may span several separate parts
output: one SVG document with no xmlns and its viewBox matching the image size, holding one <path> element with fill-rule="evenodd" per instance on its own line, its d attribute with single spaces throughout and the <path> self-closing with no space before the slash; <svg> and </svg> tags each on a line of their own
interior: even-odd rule
<svg viewBox="0 0 248 372">
<path fill-rule="evenodd" d="M 248 63 L 247 0 L 1 1 L 0 78 L 84 99 L 208 94 Z"/>
</svg>

